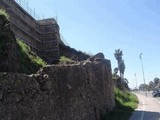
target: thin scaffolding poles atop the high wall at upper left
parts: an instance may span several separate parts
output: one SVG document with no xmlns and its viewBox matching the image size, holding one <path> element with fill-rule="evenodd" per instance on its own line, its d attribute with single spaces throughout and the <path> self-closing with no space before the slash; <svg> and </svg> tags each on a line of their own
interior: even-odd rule
<svg viewBox="0 0 160 120">
<path fill-rule="evenodd" d="M 41 20 L 38 14 L 35 12 L 35 8 L 31 9 L 28 5 L 28 0 L 14 0 L 19 4 L 28 14 L 30 14 L 35 20 Z"/>
</svg>

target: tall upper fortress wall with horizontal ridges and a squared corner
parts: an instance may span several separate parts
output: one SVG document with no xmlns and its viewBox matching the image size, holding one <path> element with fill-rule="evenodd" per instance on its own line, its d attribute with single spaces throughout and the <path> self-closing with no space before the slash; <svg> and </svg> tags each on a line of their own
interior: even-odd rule
<svg viewBox="0 0 160 120">
<path fill-rule="evenodd" d="M 46 62 L 59 58 L 59 26 L 54 18 L 36 20 L 14 0 L 1 0 L 0 8 L 10 16 L 16 36 L 28 44 Z"/>
</svg>

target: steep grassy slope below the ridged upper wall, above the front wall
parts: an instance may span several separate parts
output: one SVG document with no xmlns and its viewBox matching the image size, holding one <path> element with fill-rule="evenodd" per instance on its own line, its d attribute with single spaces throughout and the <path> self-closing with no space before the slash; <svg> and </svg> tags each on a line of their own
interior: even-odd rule
<svg viewBox="0 0 160 120">
<path fill-rule="evenodd" d="M 18 39 L 17 43 L 20 62 L 20 69 L 18 72 L 32 74 L 36 73 L 41 67 L 46 65 L 46 62 L 32 52 L 27 44 Z"/>
</svg>

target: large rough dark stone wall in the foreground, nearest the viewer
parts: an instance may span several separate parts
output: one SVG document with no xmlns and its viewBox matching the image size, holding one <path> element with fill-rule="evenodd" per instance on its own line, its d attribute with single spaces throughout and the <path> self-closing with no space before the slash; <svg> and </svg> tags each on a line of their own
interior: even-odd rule
<svg viewBox="0 0 160 120">
<path fill-rule="evenodd" d="M 0 73 L 1 120 L 100 120 L 114 106 L 109 60 Z"/>
</svg>

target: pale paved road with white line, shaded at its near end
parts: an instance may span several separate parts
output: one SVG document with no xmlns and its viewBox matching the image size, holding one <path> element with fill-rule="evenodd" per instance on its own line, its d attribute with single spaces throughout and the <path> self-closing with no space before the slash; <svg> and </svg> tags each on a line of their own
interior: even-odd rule
<svg viewBox="0 0 160 120">
<path fill-rule="evenodd" d="M 143 93 L 136 93 L 139 99 L 138 108 L 129 120 L 160 120 L 160 98 L 147 97 Z"/>
</svg>

